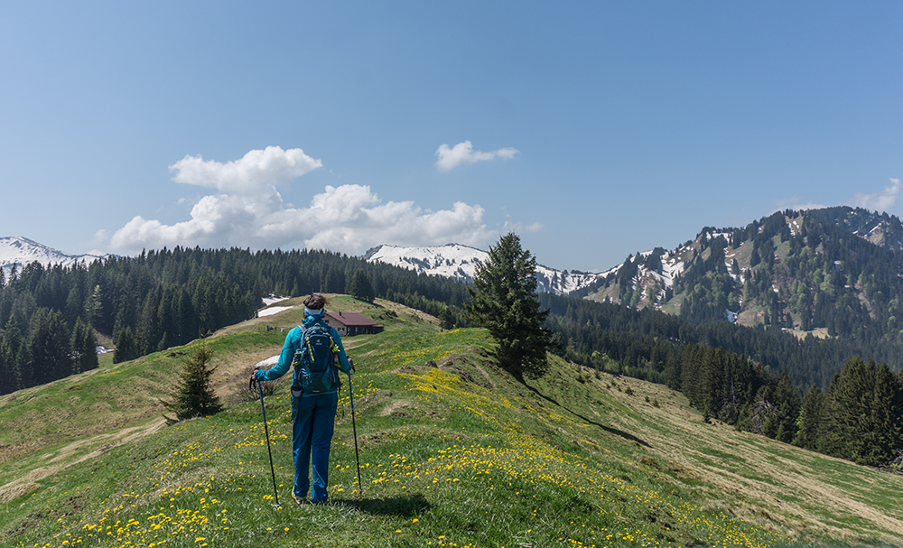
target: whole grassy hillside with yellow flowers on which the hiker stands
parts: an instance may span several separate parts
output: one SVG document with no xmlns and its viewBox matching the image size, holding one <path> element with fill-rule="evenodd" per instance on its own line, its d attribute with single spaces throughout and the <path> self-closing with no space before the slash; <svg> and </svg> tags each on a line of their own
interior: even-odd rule
<svg viewBox="0 0 903 548">
<path fill-rule="evenodd" d="M 289 504 L 290 410 L 277 385 L 266 406 L 283 506 L 272 506 L 245 379 L 300 320 L 293 308 L 0 397 L 0 534 L 23 547 L 903 542 L 903 477 L 705 424 L 664 386 L 558 358 L 521 385 L 488 357 L 485 331 L 440 331 L 391 302 L 340 297 L 330 309 L 386 325 L 346 339 L 362 493 L 343 391 L 332 504 Z M 216 352 L 228 409 L 164 427 L 157 398 L 199 344 Z"/>
</svg>

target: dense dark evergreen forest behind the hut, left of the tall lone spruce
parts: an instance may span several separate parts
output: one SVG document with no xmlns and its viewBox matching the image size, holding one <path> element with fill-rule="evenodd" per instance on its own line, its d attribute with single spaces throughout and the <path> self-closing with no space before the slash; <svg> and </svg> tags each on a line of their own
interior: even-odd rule
<svg viewBox="0 0 903 548">
<path fill-rule="evenodd" d="M 0 277 L 0 394 L 98 366 L 95 333 L 114 361 L 204 338 L 253 318 L 275 293 L 352 293 L 401 302 L 464 325 L 466 287 L 327 251 L 145 251 L 90 265 L 32 263 Z"/>
</svg>

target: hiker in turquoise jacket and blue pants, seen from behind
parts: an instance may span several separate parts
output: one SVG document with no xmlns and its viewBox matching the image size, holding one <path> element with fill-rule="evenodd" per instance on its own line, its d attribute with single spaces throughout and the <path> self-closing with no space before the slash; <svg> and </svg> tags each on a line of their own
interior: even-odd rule
<svg viewBox="0 0 903 548">
<path fill-rule="evenodd" d="M 305 299 L 302 325 L 285 336 L 279 362 L 266 370 L 257 366 L 251 375 L 254 380 L 269 381 L 283 376 L 290 365 L 294 366 L 292 449 L 294 499 L 299 505 L 309 504 L 311 477 L 308 472 L 311 460 L 313 495 L 310 503 L 322 504 L 327 500 L 330 446 L 341 386 L 337 369 L 348 373 L 354 366 L 345 354 L 339 333 L 326 323 L 325 307 L 326 297 L 320 293 L 313 293 Z M 324 360 L 328 363 L 322 368 Z"/>
</svg>

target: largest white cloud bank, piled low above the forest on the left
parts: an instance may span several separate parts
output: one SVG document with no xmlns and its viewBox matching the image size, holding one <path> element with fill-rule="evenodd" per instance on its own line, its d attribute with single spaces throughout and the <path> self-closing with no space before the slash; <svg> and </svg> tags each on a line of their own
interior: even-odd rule
<svg viewBox="0 0 903 548">
<path fill-rule="evenodd" d="M 170 166 L 172 180 L 217 192 L 201 198 L 189 220 L 173 225 L 136 216 L 116 230 L 110 246 L 122 253 L 163 246 L 304 246 L 358 255 L 379 244 L 480 246 L 493 237 L 479 205 L 456 202 L 433 212 L 413 201 L 383 203 L 369 186 L 356 184 L 327 186 L 308 207 L 286 208 L 277 187 L 320 167 L 302 149 L 278 146 L 228 163 L 185 156 Z"/>
</svg>

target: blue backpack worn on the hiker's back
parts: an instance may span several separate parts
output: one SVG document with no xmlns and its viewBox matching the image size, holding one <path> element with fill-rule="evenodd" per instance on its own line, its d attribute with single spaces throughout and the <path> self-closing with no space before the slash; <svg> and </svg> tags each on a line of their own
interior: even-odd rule
<svg viewBox="0 0 903 548">
<path fill-rule="evenodd" d="M 335 367 L 339 346 L 332 340 L 330 326 L 323 320 L 301 328 L 301 348 L 294 353 L 292 392 L 323 394 L 339 388 L 339 368 Z M 300 390 L 299 390 L 300 389 Z"/>
</svg>

